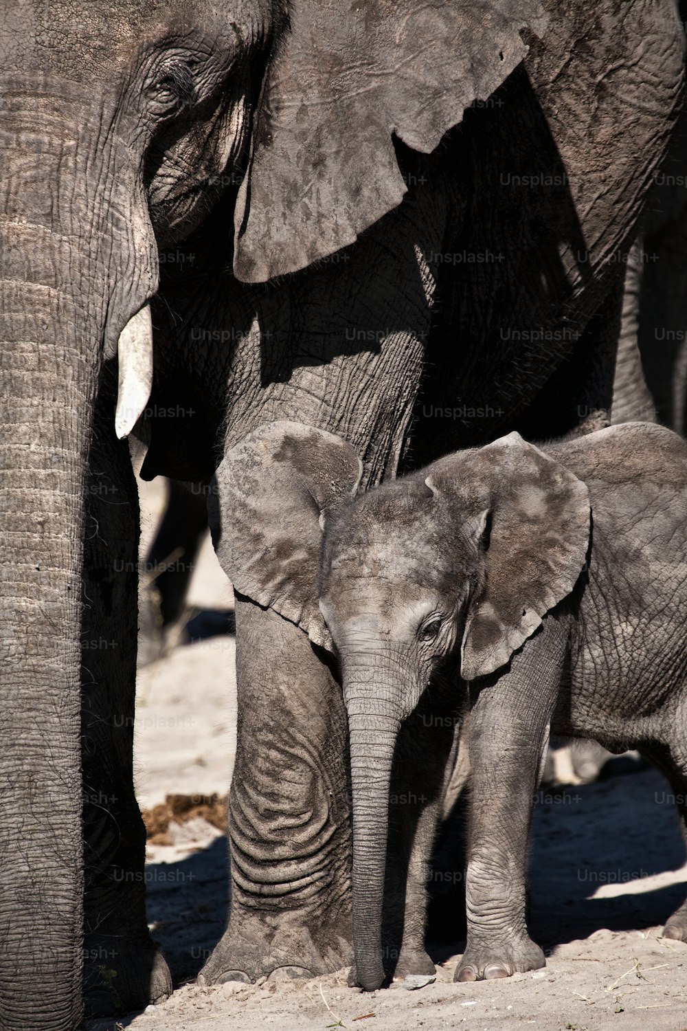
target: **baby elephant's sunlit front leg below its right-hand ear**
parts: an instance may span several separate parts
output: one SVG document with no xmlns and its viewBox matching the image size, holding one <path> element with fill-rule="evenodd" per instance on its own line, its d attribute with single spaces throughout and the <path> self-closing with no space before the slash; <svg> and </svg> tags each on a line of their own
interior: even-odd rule
<svg viewBox="0 0 687 1031">
<path fill-rule="evenodd" d="M 545 965 L 525 924 L 527 835 L 560 683 L 560 629 L 545 626 L 510 670 L 471 687 L 468 942 L 456 980 Z"/>
</svg>

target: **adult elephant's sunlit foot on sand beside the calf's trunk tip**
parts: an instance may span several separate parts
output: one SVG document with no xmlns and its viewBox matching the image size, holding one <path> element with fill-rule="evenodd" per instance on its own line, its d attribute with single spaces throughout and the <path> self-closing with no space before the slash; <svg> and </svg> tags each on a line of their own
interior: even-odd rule
<svg viewBox="0 0 687 1031">
<path fill-rule="evenodd" d="M 315 941 L 303 927 L 271 928 L 251 921 L 234 931 L 230 925 L 198 975 L 199 985 L 229 980 L 252 984 L 260 977 L 277 980 L 333 973 L 351 961 L 351 945 L 341 933 L 317 928 Z M 315 926 L 313 918 L 313 926 Z"/>
</svg>

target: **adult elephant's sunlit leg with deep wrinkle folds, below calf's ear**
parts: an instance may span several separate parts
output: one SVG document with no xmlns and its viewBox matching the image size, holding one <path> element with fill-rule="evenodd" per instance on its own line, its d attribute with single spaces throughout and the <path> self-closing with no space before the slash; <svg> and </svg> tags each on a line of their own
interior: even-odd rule
<svg viewBox="0 0 687 1031">
<path fill-rule="evenodd" d="M 236 599 L 238 727 L 229 803 L 229 927 L 201 984 L 351 961 L 347 725 L 306 634 Z"/>
</svg>

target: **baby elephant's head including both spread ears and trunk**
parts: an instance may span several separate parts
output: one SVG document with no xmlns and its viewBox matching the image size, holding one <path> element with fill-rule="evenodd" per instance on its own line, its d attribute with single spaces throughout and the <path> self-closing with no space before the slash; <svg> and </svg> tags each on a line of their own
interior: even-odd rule
<svg viewBox="0 0 687 1031">
<path fill-rule="evenodd" d="M 333 434 L 261 427 L 217 471 L 215 545 L 234 586 L 338 655 L 353 787 L 358 982 L 383 979 L 381 904 L 391 761 L 438 664 L 465 679 L 506 665 L 574 589 L 587 488 L 517 433 L 358 493 Z"/>
</svg>

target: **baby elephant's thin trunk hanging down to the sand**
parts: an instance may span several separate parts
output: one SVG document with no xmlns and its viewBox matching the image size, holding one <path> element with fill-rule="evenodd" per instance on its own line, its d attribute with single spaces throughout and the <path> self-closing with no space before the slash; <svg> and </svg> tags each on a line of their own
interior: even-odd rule
<svg viewBox="0 0 687 1031">
<path fill-rule="evenodd" d="M 357 983 L 367 991 L 384 979 L 381 931 L 389 786 L 401 725 L 400 706 L 385 693 L 388 671 L 380 665 L 367 670 L 356 663 L 353 669 L 351 663 L 343 666 L 353 791 L 353 951 Z"/>
</svg>

